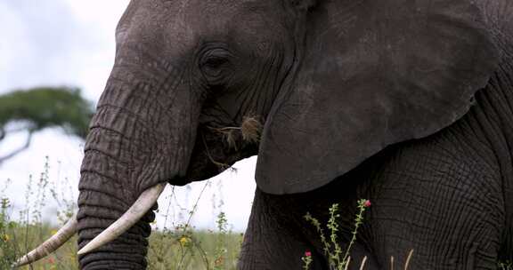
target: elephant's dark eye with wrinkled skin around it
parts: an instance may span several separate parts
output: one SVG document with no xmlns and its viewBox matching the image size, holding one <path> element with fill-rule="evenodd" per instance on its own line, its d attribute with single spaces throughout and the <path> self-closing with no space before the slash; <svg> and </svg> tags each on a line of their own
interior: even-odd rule
<svg viewBox="0 0 513 270">
<path fill-rule="evenodd" d="M 219 84 L 232 69 L 231 54 L 223 49 L 215 49 L 203 55 L 199 67 L 210 84 Z"/>
</svg>

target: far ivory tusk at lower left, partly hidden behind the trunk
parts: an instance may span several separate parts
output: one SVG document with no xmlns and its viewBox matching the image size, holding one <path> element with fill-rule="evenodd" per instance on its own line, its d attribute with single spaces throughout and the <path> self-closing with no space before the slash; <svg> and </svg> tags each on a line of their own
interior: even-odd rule
<svg viewBox="0 0 513 270">
<path fill-rule="evenodd" d="M 69 238 L 77 233 L 77 213 L 71 217 L 64 226 L 53 234 L 50 239 L 40 244 L 36 249 L 28 252 L 27 255 L 19 258 L 12 267 L 20 267 L 36 262 L 41 258 L 45 258 L 48 254 L 59 249 Z"/>
</svg>

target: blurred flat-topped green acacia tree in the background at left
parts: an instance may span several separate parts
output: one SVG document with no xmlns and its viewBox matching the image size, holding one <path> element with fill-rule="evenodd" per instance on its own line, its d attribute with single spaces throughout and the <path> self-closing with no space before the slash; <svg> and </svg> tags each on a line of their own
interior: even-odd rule
<svg viewBox="0 0 513 270">
<path fill-rule="evenodd" d="M 25 144 L 0 156 L 0 164 L 27 149 L 33 134 L 47 127 L 60 126 L 85 139 L 93 113 L 77 88 L 37 87 L 0 95 L 0 143 L 8 134 L 28 131 Z"/>
</svg>

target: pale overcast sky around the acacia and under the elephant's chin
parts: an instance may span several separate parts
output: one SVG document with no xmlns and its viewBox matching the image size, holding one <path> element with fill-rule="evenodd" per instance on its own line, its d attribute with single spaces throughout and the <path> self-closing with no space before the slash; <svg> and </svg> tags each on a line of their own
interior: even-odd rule
<svg viewBox="0 0 513 270">
<path fill-rule="evenodd" d="M 33 86 L 69 85 L 81 88 L 85 98 L 95 103 L 114 61 L 114 29 L 126 4 L 127 0 L 1 1 L 0 94 Z M 0 144 L 0 156 L 22 145 L 25 137 L 19 133 L 5 139 Z M 29 176 L 37 182 L 45 156 L 49 156 L 50 186 L 61 190 L 70 186 L 62 196 L 76 200 L 82 147 L 80 139 L 58 129 L 38 133 L 26 152 L 0 166 L 0 192 L 11 179 L 5 194 L 17 210 L 25 207 Z M 187 212 L 208 185 L 192 224 L 214 228 L 217 213 L 224 210 L 233 228 L 244 230 L 255 190 L 255 162 L 253 157 L 236 163 L 237 172 L 227 171 L 209 181 L 176 187 L 172 200 L 172 188 L 167 187 L 159 200 L 158 226 L 164 226 L 163 214 L 169 205 L 167 226 L 180 222 L 180 218 L 187 219 Z M 55 217 L 55 208 L 56 204 L 50 203 L 43 210 L 45 220 Z"/>
</svg>

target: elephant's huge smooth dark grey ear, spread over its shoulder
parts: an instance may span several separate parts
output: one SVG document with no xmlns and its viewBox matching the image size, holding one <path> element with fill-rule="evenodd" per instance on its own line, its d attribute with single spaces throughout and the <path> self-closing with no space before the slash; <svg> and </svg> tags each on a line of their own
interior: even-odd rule
<svg viewBox="0 0 513 270">
<path fill-rule="evenodd" d="M 499 61 L 474 2 L 333 0 L 304 12 L 303 59 L 267 117 L 257 186 L 322 187 L 465 115 Z"/>
</svg>

